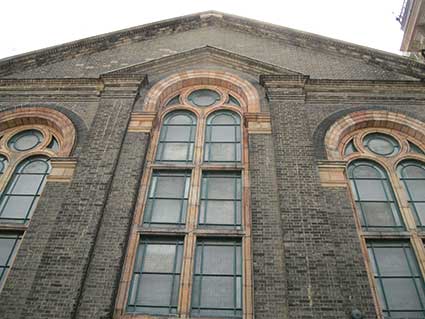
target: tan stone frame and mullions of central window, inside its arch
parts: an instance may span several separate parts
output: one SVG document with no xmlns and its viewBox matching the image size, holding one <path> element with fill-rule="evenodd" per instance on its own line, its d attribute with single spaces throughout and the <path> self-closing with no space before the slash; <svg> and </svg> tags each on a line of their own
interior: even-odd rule
<svg viewBox="0 0 425 319">
<path fill-rule="evenodd" d="M 214 105 L 209 107 L 196 107 L 193 106 L 188 100 L 188 95 L 198 89 L 213 89 L 220 93 L 221 99 Z M 233 98 L 238 99 L 239 105 L 229 104 L 228 95 L 231 94 Z M 176 96 L 179 99 L 175 99 Z M 173 100 L 173 103 L 168 101 Z M 237 318 L 251 319 L 253 318 L 252 311 L 252 265 L 251 265 L 251 229 L 250 229 L 250 202 L 249 202 L 249 182 L 248 182 L 248 153 L 247 153 L 247 138 L 248 130 L 243 126 L 243 118 L 246 112 L 246 105 L 240 98 L 240 95 L 236 92 L 232 92 L 229 89 L 211 86 L 211 85 L 194 85 L 189 88 L 185 88 L 180 92 L 173 92 L 170 97 L 163 99 L 161 112 L 158 114 L 159 120 L 156 122 L 156 126 L 153 128 L 151 137 L 151 143 L 147 154 L 144 175 L 142 177 L 141 188 L 139 191 L 139 199 L 136 205 L 136 212 L 133 220 L 133 227 L 129 239 L 129 247 L 127 257 L 124 262 L 122 272 L 122 284 L 120 285 L 118 298 L 116 301 L 115 315 L 117 318 L 152 318 L 161 317 L 160 315 L 149 315 L 149 314 L 134 314 L 126 311 L 129 285 L 131 284 L 131 274 L 133 271 L 134 260 L 136 257 L 136 248 L 139 241 L 149 236 L 177 236 L 184 239 L 184 258 L 182 265 L 182 275 L 180 282 L 179 291 L 179 302 L 177 314 L 180 316 L 186 316 L 190 318 L 198 318 L 191 314 L 191 298 L 192 298 L 192 282 L 193 282 L 193 267 L 195 259 L 195 247 L 197 239 L 203 238 L 215 238 L 215 239 L 237 239 L 241 242 L 242 247 L 242 314 Z M 171 112 L 182 112 L 189 111 L 195 114 L 197 118 L 196 127 L 196 138 L 194 147 L 194 156 L 192 162 L 180 162 L 180 163 L 163 163 L 155 161 L 156 149 L 158 146 L 160 131 L 164 118 Z M 215 112 L 233 112 L 239 117 L 240 122 L 240 147 L 241 147 L 241 160 L 239 162 L 206 162 L 204 161 L 204 144 L 205 144 L 205 132 L 206 132 L 206 121 L 208 116 Z M 158 170 L 188 170 L 191 172 L 191 187 L 189 194 L 189 205 L 187 212 L 187 219 L 184 228 L 168 227 L 160 228 L 155 227 L 149 229 L 143 227 L 141 221 L 143 221 L 143 214 L 147 203 L 147 192 L 150 187 L 150 180 L 154 171 Z M 200 202 L 200 184 L 203 172 L 237 172 L 240 174 L 241 179 L 241 210 L 242 210 L 242 221 L 240 229 L 233 229 L 229 227 L 218 227 L 218 228 L 203 228 L 198 227 L 198 208 L 197 205 Z M 217 317 L 220 318 L 220 317 Z"/>
</svg>

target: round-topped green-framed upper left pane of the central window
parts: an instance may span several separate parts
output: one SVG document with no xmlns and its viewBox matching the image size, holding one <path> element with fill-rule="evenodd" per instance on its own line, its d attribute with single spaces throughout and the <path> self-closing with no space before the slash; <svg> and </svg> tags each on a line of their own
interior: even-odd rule
<svg viewBox="0 0 425 319">
<path fill-rule="evenodd" d="M 189 111 L 175 111 L 164 118 L 159 134 L 156 162 L 193 161 L 196 116 Z"/>
</svg>

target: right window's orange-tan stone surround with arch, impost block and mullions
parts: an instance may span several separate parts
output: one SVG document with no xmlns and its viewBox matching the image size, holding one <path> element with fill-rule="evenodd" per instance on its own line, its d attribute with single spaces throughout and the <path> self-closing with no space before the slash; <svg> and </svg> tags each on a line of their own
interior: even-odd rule
<svg viewBox="0 0 425 319">
<path fill-rule="evenodd" d="M 375 132 L 395 138 L 400 144 L 400 152 L 394 156 L 384 157 L 368 151 L 363 145 L 363 138 Z M 345 147 L 351 140 L 354 142 L 357 152 L 345 156 Z M 402 161 L 415 160 L 425 163 L 425 155 L 409 151 L 409 141 L 416 144 L 420 149 L 425 150 L 425 143 L 423 143 L 425 141 L 424 123 L 406 115 L 389 111 L 353 112 L 330 127 L 325 136 L 328 160 L 319 163 L 320 179 L 322 186 L 325 187 L 347 187 L 346 168 L 352 161 L 358 159 L 376 162 L 388 174 L 388 180 L 394 190 L 396 202 L 400 207 L 400 213 L 406 226 L 405 231 L 364 231 L 361 227 L 359 215 L 356 212 L 354 197 L 351 191 L 347 190 L 378 318 L 382 318 L 382 311 L 369 260 L 367 241 L 407 240 L 410 242 L 418 261 L 422 278 L 425 278 L 425 232 L 416 226 L 416 221 L 408 204 L 407 194 L 397 174 L 397 167 Z"/>
</svg>

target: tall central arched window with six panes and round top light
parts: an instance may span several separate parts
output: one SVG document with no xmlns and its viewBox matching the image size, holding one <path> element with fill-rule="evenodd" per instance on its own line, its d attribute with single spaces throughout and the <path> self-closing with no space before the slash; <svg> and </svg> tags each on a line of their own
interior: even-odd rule
<svg viewBox="0 0 425 319">
<path fill-rule="evenodd" d="M 118 302 L 123 317 L 252 318 L 245 104 L 230 92 L 198 85 L 163 99 L 168 113 L 153 132 Z"/>
</svg>

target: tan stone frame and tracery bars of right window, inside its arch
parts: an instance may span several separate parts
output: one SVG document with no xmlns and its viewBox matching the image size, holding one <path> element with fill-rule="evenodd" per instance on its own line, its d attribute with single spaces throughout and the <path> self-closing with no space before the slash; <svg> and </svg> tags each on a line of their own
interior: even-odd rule
<svg viewBox="0 0 425 319">
<path fill-rule="evenodd" d="M 382 133 L 393 137 L 400 145 L 398 153 L 389 156 L 378 155 L 364 147 L 363 140 L 365 136 L 373 133 Z M 354 151 L 346 153 L 346 147 L 350 143 L 354 146 Z M 412 149 L 412 144 L 418 147 L 421 151 L 425 149 L 425 144 L 412 137 L 412 134 L 408 135 L 403 131 L 388 129 L 385 127 L 367 127 L 352 130 L 352 132 L 346 134 L 341 140 L 338 149 L 340 158 L 347 163 L 347 181 L 350 181 L 348 173 L 349 167 L 351 163 L 355 163 L 356 161 L 374 162 L 384 170 L 388 176 L 389 185 L 393 190 L 395 203 L 399 207 L 400 216 L 406 227 L 404 230 L 400 231 L 364 229 L 362 227 L 358 209 L 355 205 L 355 195 L 353 194 L 353 190 L 350 186 L 349 194 L 353 204 L 353 211 L 355 213 L 356 228 L 361 240 L 361 249 L 363 256 L 365 257 L 366 269 L 368 271 L 368 278 L 372 287 L 372 295 L 375 301 L 376 312 L 380 319 L 384 319 L 386 317 L 384 317 L 383 307 L 378 294 L 379 283 L 375 280 L 371 257 L 368 254 L 368 245 L 370 245 L 370 243 L 376 241 L 408 243 L 411 246 L 413 254 L 417 260 L 422 284 L 424 283 L 425 278 L 425 232 L 416 225 L 414 212 L 409 207 L 408 194 L 406 193 L 406 190 L 402 185 L 403 181 L 400 179 L 398 174 L 399 165 L 404 161 L 418 161 L 423 164 L 425 163 L 425 155 L 419 153 L 416 149 Z"/>
</svg>

